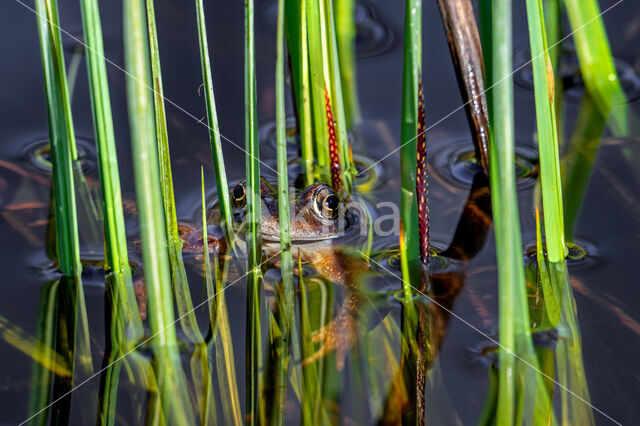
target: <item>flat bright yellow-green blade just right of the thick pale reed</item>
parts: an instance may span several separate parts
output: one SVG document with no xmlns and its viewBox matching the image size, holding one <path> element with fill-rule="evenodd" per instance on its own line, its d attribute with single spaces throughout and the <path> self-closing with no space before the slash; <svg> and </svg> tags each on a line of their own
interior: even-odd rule
<svg viewBox="0 0 640 426">
<path fill-rule="evenodd" d="M 554 105 L 554 76 L 547 52 L 547 35 L 540 0 L 527 0 L 529 41 L 536 101 L 538 147 L 547 256 L 550 262 L 564 260 L 562 187 L 558 160 L 558 129 Z M 554 280 L 561 282 L 561 280 Z"/>
</svg>

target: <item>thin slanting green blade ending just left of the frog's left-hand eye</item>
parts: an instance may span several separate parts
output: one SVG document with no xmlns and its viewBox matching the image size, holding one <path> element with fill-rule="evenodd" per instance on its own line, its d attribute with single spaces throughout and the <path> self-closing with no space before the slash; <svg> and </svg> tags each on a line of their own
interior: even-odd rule
<svg viewBox="0 0 640 426">
<path fill-rule="evenodd" d="M 209 123 L 209 141 L 213 156 L 213 168 L 216 173 L 216 188 L 218 190 L 218 205 L 222 226 L 227 237 L 227 242 L 233 244 L 233 222 L 231 220 L 231 202 L 229 200 L 229 187 L 227 185 L 227 173 L 225 172 L 222 156 L 222 143 L 218 129 L 218 115 L 216 101 L 213 95 L 213 76 L 211 74 L 211 60 L 209 59 L 209 46 L 207 42 L 207 28 L 204 19 L 204 5 L 202 0 L 196 0 L 196 13 L 198 17 L 198 40 L 200 42 L 200 62 L 202 63 L 202 81 L 204 84 L 205 101 L 207 106 L 207 122 Z"/>
</svg>

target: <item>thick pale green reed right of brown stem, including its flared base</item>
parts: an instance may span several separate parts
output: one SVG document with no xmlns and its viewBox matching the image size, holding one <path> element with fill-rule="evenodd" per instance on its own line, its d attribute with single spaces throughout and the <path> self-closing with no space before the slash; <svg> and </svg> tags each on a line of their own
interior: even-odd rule
<svg viewBox="0 0 640 426">
<path fill-rule="evenodd" d="M 514 155 L 511 1 L 492 5 L 493 87 L 490 138 L 491 205 L 498 260 L 499 372 L 496 423 L 536 423 L 548 418 L 550 401 L 533 351 L 522 263 Z M 516 358 L 517 356 L 517 358 Z M 525 404 L 525 401 L 527 402 Z M 531 404 L 530 401 L 535 401 Z"/>
</svg>

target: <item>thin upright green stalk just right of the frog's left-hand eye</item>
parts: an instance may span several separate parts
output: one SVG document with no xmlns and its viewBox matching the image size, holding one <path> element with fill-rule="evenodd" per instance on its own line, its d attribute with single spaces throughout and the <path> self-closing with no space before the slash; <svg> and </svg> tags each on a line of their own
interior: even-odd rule
<svg viewBox="0 0 640 426">
<path fill-rule="evenodd" d="M 262 294 L 262 243 L 260 238 L 261 198 L 260 160 L 258 146 L 258 116 L 256 93 L 256 62 L 254 46 L 253 0 L 245 0 L 245 138 L 246 138 L 246 183 L 247 183 L 247 422 L 259 422 L 258 399 L 260 370 L 262 368 L 260 337 L 260 298 Z"/>
</svg>

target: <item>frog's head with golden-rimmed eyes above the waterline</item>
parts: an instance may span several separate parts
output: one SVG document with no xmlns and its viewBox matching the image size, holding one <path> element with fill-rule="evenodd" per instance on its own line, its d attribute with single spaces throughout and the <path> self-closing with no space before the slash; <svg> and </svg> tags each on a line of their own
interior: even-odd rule
<svg viewBox="0 0 640 426">
<path fill-rule="evenodd" d="M 280 240 L 278 192 L 264 178 L 261 179 L 262 238 L 265 242 Z M 246 185 L 239 182 L 231 189 L 234 222 L 241 224 L 246 216 Z M 305 243 L 340 237 L 359 223 L 354 209 L 344 206 L 330 185 L 315 183 L 295 193 L 290 210 L 290 233 L 293 243 Z"/>
</svg>

